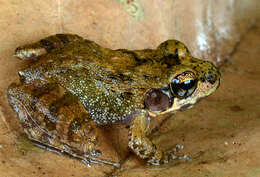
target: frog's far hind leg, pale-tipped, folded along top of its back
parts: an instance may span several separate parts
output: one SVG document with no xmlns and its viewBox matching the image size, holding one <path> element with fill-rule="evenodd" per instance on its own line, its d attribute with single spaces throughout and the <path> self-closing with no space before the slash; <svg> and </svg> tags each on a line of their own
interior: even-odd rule
<svg viewBox="0 0 260 177">
<path fill-rule="evenodd" d="M 36 59 L 41 55 L 45 55 L 53 49 L 65 46 L 68 43 L 83 40 L 82 37 L 75 34 L 56 34 L 44 38 L 36 43 L 27 44 L 18 47 L 15 50 L 14 56 L 22 60 Z"/>
</svg>

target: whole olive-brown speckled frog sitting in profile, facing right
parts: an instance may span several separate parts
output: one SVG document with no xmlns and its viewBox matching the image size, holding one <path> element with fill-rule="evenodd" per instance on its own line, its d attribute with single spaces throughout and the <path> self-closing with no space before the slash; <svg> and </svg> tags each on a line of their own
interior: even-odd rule
<svg viewBox="0 0 260 177">
<path fill-rule="evenodd" d="M 150 122 L 193 107 L 220 84 L 212 62 L 173 39 L 155 49 L 112 50 L 55 34 L 18 47 L 14 56 L 27 63 L 6 97 L 27 137 L 89 166 L 120 167 L 99 150 L 98 129 L 115 124 L 128 127 L 129 149 L 148 164 L 178 159 L 176 148 L 162 150 L 151 140 Z"/>
</svg>

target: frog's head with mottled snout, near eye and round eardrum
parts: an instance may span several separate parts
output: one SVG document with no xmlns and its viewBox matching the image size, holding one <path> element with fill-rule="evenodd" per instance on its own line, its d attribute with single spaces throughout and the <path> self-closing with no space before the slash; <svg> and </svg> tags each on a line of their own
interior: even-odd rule
<svg viewBox="0 0 260 177">
<path fill-rule="evenodd" d="M 209 61 L 181 59 L 167 71 L 167 87 L 146 92 L 145 107 L 151 116 L 191 108 L 212 94 L 220 84 L 220 72 Z"/>
</svg>

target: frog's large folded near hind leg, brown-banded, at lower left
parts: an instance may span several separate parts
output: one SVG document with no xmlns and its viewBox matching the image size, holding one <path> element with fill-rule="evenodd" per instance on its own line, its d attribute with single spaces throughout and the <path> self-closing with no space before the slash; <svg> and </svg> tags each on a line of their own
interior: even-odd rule
<svg viewBox="0 0 260 177">
<path fill-rule="evenodd" d="M 87 165 L 120 166 L 100 158 L 95 123 L 77 98 L 63 88 L 56 85 L 35 89 L 29 85 L 11 84 L 7 98 L 34 144 L 52 152 L 68 154 Z"/>
</svg>

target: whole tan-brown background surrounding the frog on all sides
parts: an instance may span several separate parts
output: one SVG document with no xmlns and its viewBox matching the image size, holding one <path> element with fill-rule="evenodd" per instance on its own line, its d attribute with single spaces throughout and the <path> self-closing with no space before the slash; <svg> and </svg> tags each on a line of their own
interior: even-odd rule
<svg viewBox="0 0 260 177">
<path fill-rule="evenodd" d="M 259 5 L 258 0 L 0 0 L 0 176 L 260 176 Z M 154 48 L 174 38 L 194 56 L 222 64 L 219 90 L 177 113 L 154 135 L 164 148 L 183 144 L 191 163 L 145 166 L 119 146 L 127 157 L 121 169 L 88 168 L 35 148 L 21 135 L 5 99 L 25 65 L 13 51 L 67 32 L 113 49 Z M 107 131 L 114 143 L 120 141 Z"/>
</svg>

